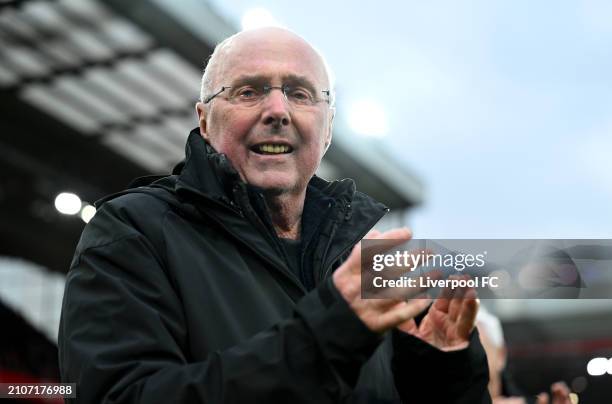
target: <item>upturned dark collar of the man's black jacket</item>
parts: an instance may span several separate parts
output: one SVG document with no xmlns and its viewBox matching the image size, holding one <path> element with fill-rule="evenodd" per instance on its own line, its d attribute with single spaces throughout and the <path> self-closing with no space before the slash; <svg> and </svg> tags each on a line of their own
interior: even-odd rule
<svg viewBox="0 0 612 404">
<path fill-rule="evenodd" d="M 173 170 L 178 176 L 174 187 L 176 194 L 186 199 L 197 195 L 208 202 L 213 201 L 199 210 L 217 220 L 281 272 L 286 272 L 282 269 L 285 266 L 283 254 L 278 251 L 282 247 L 267 220 L 259 190 L 241 180 L 228 158 L 204 140 L 199 128 L 189 134 L 185 156 Z M 223 209 L 215 209 L 221 206 Z M 216 213 L 212 214 L 210 209 L 215 209 Z M 314 257 L 310 265 L 315 282 L 323 279 L 332 264 L 345 257 L 388 210 L 382 203 L 356 191 L 351 179 L 329 182 L 313 176 L 304 203 L 302 242 L 303 248 Z M 253 225 L 260 231 L 253 232 Z M 299 282 L 294 284 L 301 288 Z"/>
</svg>

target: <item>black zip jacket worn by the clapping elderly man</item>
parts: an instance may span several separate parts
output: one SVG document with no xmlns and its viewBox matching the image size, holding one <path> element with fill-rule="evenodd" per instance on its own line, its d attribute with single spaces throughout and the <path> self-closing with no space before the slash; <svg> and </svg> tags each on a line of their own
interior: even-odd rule
<svg viewBox="0 0 612 404">
<path fill-rule="evenodd" d="M 140 184 L 97 204 L 68 273 L 60 370 L 78 402 L 398 402 L 394 377 L 406 402 L 487 402 L 476 335 L 452 355 L 383 341 L 333 286 L 387 210 L 351 180 L 310 182 L 301 279 L 261 194 L 197 130 L 174 175 Z"/>
</svg>

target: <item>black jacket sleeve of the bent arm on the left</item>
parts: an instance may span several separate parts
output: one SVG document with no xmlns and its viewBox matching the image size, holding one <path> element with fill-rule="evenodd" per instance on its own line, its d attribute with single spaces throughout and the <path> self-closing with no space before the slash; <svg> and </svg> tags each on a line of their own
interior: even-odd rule
<svg viewBox="0 0 612 404">
<path fill-rule="evenodd" d="M 188 320 L 157 253 L 141 234 L 77 252 L 58 338 L 62 381 L 77 383 L 68 402 L 339 402 L 380 342 L 330 279 L 291 318 L 190 361 Z"/>
</svg>

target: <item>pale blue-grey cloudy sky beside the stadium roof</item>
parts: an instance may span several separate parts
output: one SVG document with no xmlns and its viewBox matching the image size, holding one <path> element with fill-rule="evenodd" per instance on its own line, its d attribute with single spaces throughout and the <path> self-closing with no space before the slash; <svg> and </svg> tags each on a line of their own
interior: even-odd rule
<svg viewBox="0 0 612 404">
<path fill-rule="evenodd" d="M 379 141 L 427 186 L 419 237 L 612 236 L 612 2 L 213 4 L 236 26 L 264 7 L 321 49 L 339 120 L 384 106 Z"/>
</svg>

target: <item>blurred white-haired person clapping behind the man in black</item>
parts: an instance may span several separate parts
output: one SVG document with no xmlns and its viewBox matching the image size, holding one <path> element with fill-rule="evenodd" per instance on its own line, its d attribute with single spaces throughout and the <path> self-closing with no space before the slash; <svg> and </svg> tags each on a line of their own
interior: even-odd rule
<svg viewBox="0 0 612 404">
<path fill-rule="evenodd" d="M 489 363 L 489 393 L 493 404 L 572 404 L 570 390 L 563 382 L 553 383 L 551 395 L 542 392 L 537 397 L 525 397 L 506 370 L 507 349 L 499 319 L 485 307 L 476 317 L 480 340 Z"/>
</svg>

